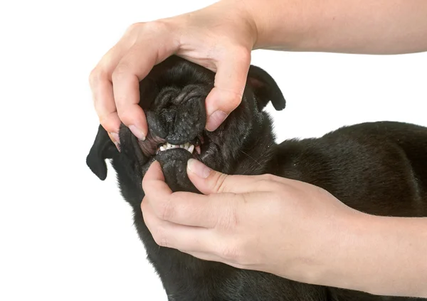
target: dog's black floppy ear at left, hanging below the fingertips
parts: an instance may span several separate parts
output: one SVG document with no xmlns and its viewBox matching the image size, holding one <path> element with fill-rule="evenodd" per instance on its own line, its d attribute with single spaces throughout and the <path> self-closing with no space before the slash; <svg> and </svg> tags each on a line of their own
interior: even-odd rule
<svg viewBox="0 0 427 301">
<path fill-rule="evenodd" d="M 98 127 L 98 132 L 90 148 L 86 164 L 90 170 L 97 175 L 100 180 L 104 181 L 107 178 L 107 164 L 105 159 L 111 159 L 119 151 L 108 137 L 107 131 L 102 125 Z"/>
</svg>

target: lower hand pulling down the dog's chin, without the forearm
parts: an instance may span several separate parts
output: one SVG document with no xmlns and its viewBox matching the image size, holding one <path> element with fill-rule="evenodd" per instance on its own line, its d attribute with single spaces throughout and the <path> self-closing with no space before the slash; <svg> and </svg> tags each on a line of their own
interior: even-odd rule
<svg viewBox="0 0 427 301">
<path fill-rule="evenodd" d="M 318 282 L 313 268 L 333 260 L 331 245 L 339 248 L 357 215 L 301 181 L 221 174 L 194 159 L 187 173 L 203 195 L 172 193 L 154 162 L 142 181 L 141 208 L 159 245 L 204 260 Z"/>
</svg>

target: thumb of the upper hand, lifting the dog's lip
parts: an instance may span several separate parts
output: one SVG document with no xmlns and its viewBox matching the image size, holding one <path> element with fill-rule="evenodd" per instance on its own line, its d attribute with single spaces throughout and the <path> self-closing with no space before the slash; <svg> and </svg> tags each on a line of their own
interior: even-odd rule
<svg viewBox="0 0 427 301">
<path fill-rule="evenodd" d="M 218 62 L 215 86 L 206 97 L 206 130 L 210 132 L 216 130 L 242 101 L 251 54 L 239 55 Z"/>
</svg>

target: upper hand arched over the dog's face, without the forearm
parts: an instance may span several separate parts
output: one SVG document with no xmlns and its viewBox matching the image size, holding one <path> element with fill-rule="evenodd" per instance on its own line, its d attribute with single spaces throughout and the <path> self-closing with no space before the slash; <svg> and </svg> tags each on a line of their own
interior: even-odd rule
<svg viewBox="0 0 427 301">
<path fill-rule="evenodd" d="M 139 81 L 172 54 L 216 72 L 206 97 L 206 130 L 213 131 L 241 102 L 255 43 L 255 26 L 241 1 L 219 1 L 189 14 L 135 23 L 90 73 L 100 124 L 118 147 L 120 122 L 144 140 Z"/>
</svg>

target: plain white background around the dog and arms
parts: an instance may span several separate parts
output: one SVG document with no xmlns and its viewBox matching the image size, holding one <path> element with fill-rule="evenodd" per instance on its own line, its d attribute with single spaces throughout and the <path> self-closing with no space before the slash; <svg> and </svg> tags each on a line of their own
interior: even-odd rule
<svg viewBox="0 0 427 301">
<path fill-rule="evenodd" d="M 166 300 L 113 171 L 102 182 L 85 165 L 98 125 L 88 75 L 131 23 L 211 2 L 1 1 L 0 300 Z M 253 64 L 288 100 L 273 114 L 280 140 L 427 126 L 427 53 L 255 51 Z"/>
</svg>

